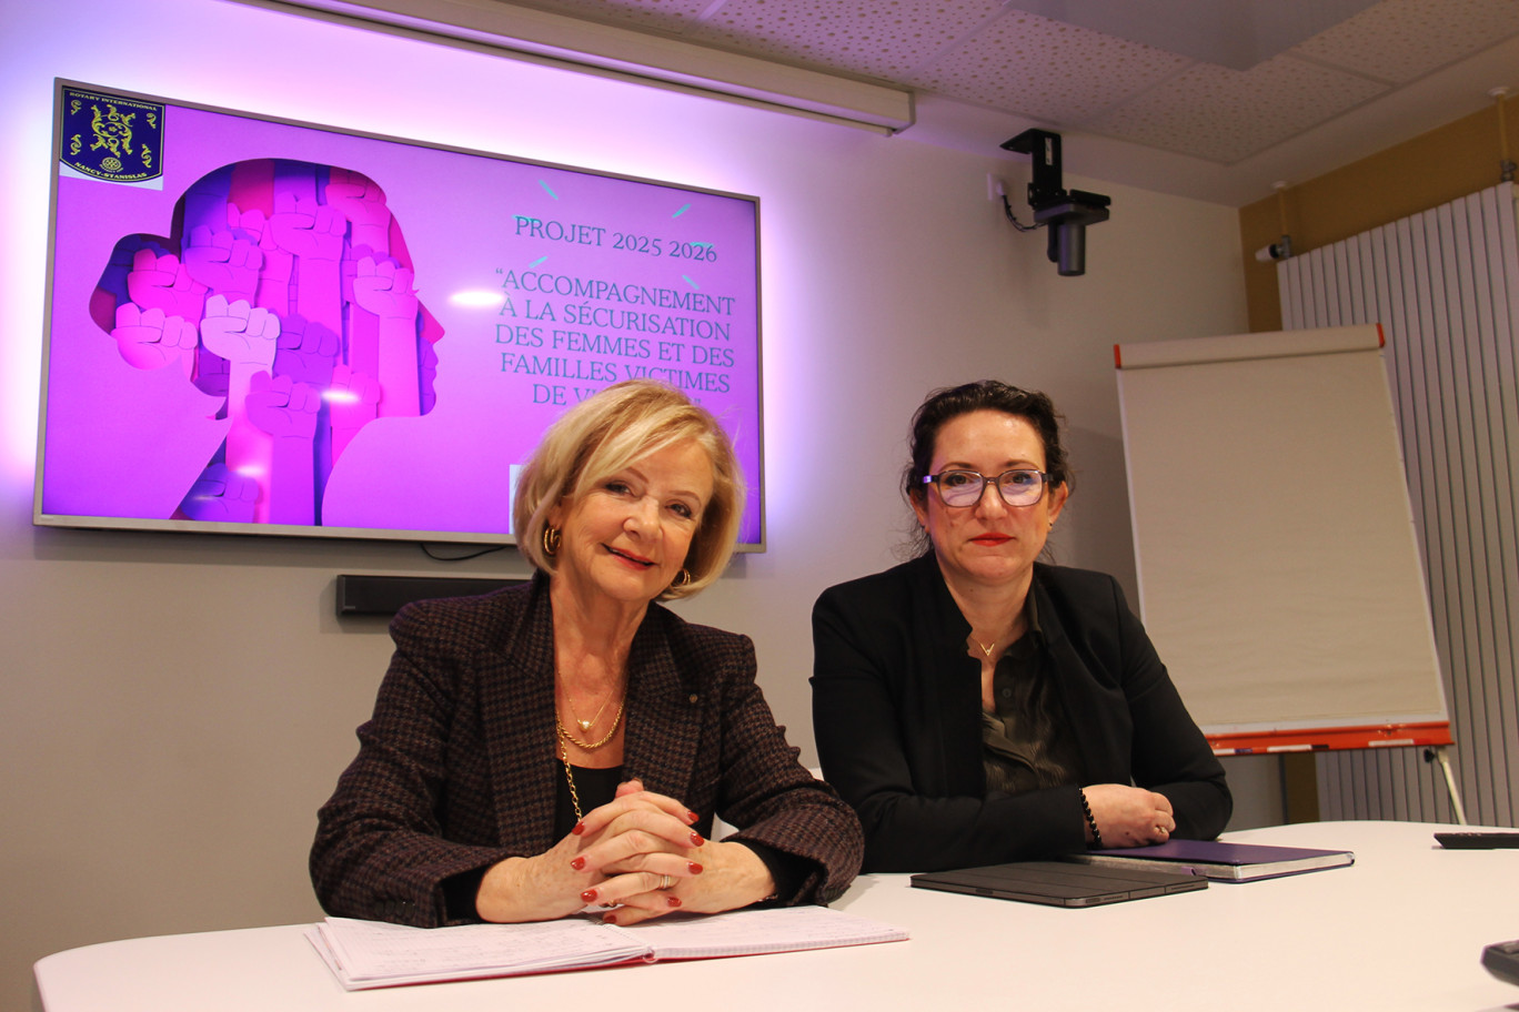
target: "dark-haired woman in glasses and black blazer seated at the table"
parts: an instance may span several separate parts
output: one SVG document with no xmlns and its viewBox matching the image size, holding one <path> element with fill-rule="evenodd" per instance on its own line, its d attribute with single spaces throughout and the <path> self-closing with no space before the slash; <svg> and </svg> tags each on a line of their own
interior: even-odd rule
<svg viewBox="0 0 1519 1012">
<path fill-rule="evenodd" d="M 1223 766 L 1118 583 L 1037 561 L 1071 495 L 1050 398 L 934 391 L 904 492 L 919 555 L 813 610 L 813 731 L 863 869 L 1217 836 Z"/>
</svg>

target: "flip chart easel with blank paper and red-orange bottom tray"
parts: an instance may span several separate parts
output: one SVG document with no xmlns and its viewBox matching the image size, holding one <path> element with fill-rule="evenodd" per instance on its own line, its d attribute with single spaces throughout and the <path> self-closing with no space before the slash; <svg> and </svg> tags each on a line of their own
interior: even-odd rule
<svg viewBox="0 0 1519 1012">
<path fill-rule="evenodd" d="M 1221 756 L 1452 743 L 1381 328 L 1113 346 L 1139 610 Z"/>
</svg>

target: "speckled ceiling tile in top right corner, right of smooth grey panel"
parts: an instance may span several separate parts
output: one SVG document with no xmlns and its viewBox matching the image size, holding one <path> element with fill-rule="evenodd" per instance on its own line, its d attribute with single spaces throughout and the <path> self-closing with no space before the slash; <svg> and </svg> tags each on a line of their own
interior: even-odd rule
<svg viewBox="0 0 1519 1012">
<path fill-rule="evenodd" d="M 1407 83 L 1516 33 L 1514 0 L 1382 0 L 1293 52 Z"/>
</svg>

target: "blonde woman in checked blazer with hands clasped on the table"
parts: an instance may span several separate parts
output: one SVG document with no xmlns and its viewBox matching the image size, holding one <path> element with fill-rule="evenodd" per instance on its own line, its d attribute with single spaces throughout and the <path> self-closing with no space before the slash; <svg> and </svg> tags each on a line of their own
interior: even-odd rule
<svg viewBox="0 0 1519 1012">
<path fill-rule="evenodd" d="M 532 581 L 407 605 L 317 813 L 328 913 L 437 927 L 837 898 L 860 824 L 797 760 L 749 637 L 659 601 L 722 575 L 744 493 L 717 420 L 652 381 L 567 411 L 524 467 Z M 720 815 L 738 831 L 709 839 Z"/>
</svg>

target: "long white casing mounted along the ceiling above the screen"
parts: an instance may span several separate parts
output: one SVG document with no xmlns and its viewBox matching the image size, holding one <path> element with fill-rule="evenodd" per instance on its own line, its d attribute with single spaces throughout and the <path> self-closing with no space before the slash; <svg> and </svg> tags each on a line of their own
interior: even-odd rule
<svg viewBox="0 0 1519 1012">
<path fill-rule="evenodd" d="M 728 53 L 500 0 L 240 0 L 371 27 L 475 42 L 513 55 L 673 85 L 744 103 L 896 134 L 913 124 L 913 93 Z"/>
</svg>

